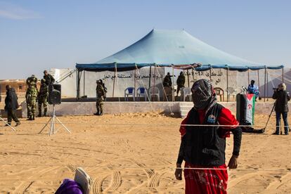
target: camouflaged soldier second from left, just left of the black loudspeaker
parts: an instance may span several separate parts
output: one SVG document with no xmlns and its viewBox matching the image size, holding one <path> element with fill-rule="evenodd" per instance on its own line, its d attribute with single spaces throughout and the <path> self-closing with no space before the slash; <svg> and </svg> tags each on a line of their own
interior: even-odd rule
<svg viewBox="0 0 291 194">
<path fill-rule="evenodd" d="M 46 112 L 48 110 L 48 86 L 46 85 L 46 79 L 41 79 L 41 88 L 39 89 L 39 95 L 37 96 L 37 101 L 39 103 L 39 115 L 41 117 L 41 105 L 44 104 L 44 117 L 46 117 Z"/>
</svg>

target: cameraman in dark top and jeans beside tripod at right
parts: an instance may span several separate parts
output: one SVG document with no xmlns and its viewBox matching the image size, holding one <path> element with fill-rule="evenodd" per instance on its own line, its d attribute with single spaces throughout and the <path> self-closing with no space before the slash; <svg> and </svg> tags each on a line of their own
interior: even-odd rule
<svg viewBox="0 0 291 194">
<path fill-rule="evenodd" d="M 286 84 L 282 83 L 278 85 L 278 89 L 274 90 L 273 99 L 276 100 L 275 112 L 276 112 L 276 132 L 275 135 L 279 134 L 280 131 L 280 119 L 281 115 L 284 122 L 285 135 L 289 134 L 289 125 L 287 121 L 287 115 L 289 112 L 288 101 L 290 101 L 290 94 L 286 91 Z"/>
</svg>

